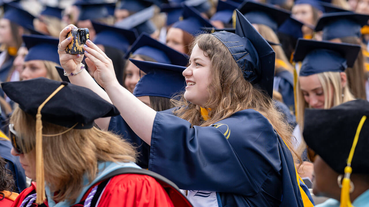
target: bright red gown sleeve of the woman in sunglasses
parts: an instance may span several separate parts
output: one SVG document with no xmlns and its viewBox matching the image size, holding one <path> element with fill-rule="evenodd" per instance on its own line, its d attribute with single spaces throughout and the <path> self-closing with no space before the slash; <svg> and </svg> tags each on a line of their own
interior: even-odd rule
<svg viewBox="0 0 369 207">
<path fill-rule="evenodd" d="M 98 207 L 173 207 L 168 194 L 152 177 L 123 174 L 111 178 Z"/>
</svg>

